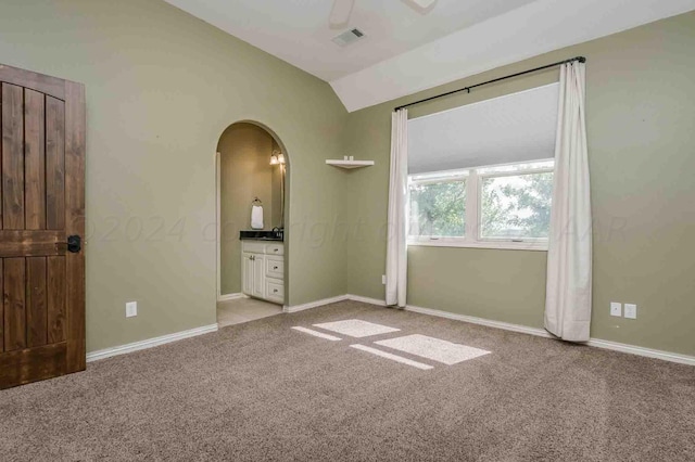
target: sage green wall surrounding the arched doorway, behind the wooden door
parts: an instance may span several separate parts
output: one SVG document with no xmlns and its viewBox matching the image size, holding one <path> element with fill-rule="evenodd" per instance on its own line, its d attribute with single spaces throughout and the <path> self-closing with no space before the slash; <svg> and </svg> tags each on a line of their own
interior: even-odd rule
<svg viewBox="0 0 695 462">
<path fill-rule="evenodd" d="M 160 0 L 0 11 L 0 63 L 86 86 L 89 351 L 215 322 L 215 147 L 239 120 L 289 154 L 289 304 L 345 293 L 343 247 L 311 234 L 343 213 L 324 159 L 348 114 L 326 82 Z"/>
</svg>

